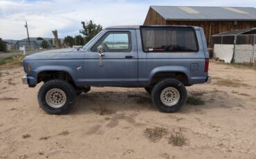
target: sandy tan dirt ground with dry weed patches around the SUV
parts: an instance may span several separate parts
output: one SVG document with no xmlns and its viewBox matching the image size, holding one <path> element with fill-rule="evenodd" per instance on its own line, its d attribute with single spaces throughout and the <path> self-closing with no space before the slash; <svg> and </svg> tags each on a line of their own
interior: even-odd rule
<svg viewBox="0 0 256 159">
<path fill-rule="evenodd" d="M 48 115 L 23 68 L 0 70 L 0 158 L 256 158 L 256 71 L 210 63 L 204 105 L 160 113 L 143 88 L 92 88 Z"/>
</svg>

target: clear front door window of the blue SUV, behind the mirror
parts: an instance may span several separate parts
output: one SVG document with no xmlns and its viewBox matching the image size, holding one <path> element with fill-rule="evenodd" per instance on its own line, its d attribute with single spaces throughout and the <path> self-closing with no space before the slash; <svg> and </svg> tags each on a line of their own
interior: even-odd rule
<svg viewBox="0 0 256 159">
<path fill-rule="evenodd" d="M 92 52 L 97 52 L 97 47 L 102 46 L 104 52 L 130 52 L 131 33 L 130 32 L 107 32 L 91 48 Z"/>
</svg>

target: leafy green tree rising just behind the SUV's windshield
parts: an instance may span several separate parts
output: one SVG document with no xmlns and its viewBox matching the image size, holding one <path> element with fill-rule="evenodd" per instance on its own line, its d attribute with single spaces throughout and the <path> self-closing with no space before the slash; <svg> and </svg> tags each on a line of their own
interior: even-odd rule
<svg viewBox="0 0 256 159">
<path fill-rule="evenodd" d="M 90 41 L 91 39 L 93 39 L 93 37 L 95 35 L 98 34 L 98 32 L 100 32 L 102 30 L 102 26 L 100 26 L 100 24 L 96 25 L 93 24 L 93 21 L 90 20 L 89 22 L 81 22 L 82 24 L 82 30 L 80 30 L 80 33 L 82 33 L 84 35 L 84 43 L 86 44 L 88 41 Z"/>
</svg>

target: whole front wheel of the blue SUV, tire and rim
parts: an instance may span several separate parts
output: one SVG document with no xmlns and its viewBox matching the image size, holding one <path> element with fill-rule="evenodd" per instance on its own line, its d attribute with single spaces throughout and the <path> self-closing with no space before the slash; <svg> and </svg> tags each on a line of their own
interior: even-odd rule
<svg viewBox="0 0 256 159">
<path fill-rule="evenodd" d="M 46 82 L 37 95 L 39 106 L 50 114 L 65 114 L 75 104 L 75 89 L 68 82 L 53 79 Z"/>
</svg>

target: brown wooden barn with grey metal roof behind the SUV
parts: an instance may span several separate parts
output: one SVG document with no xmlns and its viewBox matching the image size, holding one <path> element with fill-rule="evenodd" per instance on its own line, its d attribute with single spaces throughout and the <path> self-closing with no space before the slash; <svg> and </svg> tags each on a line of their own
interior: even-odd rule
<svg viewBox="0 0 256 159">
<path fill-rule="evenodd" d="M 256 27 L 256 8 L 205 6 L 150 6 L 144 25 L 200 26 L 208 47 L 212 35 Z"/>
</svg>

